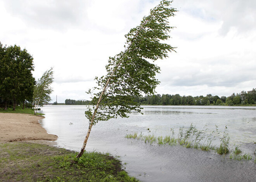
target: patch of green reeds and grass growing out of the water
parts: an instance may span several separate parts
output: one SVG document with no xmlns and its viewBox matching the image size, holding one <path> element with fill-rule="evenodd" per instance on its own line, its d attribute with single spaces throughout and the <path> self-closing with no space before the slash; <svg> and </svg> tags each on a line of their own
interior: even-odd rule
<svg viewBox="0 0 256 182">
<path fill-rule="evenodd" d="M 145 143 L 150 143 L 150 145 L 157 143 L 157 145 L 182 145 L 186 148 L 201 149 L 202 151 L 213 151 L 220 155 L 230 154 L 229 158 L 235 160 L 251 160 L 252 156 L 246 153 L 242 153 L 238 146 L 234 149 L 230 149 L 229 146 L 229 135 L 228 128 L 225 126 L 223 132 L 215 126 L 214 131 L 209 131 L 208 128 L 204 127 L 202 130 L 195 128 L 193 124 L 189 128 L 184 127 L 179 129 L 177 136 L 173 129 L 171 129 L 172 134 L 168 136 L 155 136 L 154 134 L 144 135 L 142 133 L 126 134 L 125 138 L 133 138 L 144 141 Z M 219 143 L 215 145 L 213 143 Z M 256 160 L 255 160 L 256 162 Z"/>
</svg>

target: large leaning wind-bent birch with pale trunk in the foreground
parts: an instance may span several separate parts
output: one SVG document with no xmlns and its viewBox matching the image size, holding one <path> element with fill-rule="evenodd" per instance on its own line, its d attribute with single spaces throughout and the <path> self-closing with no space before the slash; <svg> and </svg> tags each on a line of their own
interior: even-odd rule
<svg viewBox="0 0 256 182">
<path fill-rule="evenodd" d="M 155 76 L 160 68 L 149 60 L 166 58 L 169 51 L 174 51 L 174 47 L 163 43 L 170 38 L 168 33 L 174 28 L 168 19 L 174 16 L 176 9 L 170 4 L 171 1 L 163 0 L 150 10 L 150 15 L 125 35 L 125 51 L 109 58 L 107 75 L 95 78 L 98 86 L 88 91 L 93 95 L 93 107 L 85 111 L 89 128 L 78 158 L 83 155 L 93 125 L 118 116 L 128 117 L 132 110 L 140 112 L 141 107 L 134 96 L 154 93 L 159 84 Z"/>
</svg>

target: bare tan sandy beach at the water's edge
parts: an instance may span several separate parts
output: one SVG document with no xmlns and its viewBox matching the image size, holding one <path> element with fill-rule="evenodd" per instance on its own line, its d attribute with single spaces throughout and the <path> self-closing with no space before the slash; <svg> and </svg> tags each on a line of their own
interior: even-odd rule
<svg viewBox="0 0 256 182">
<path fill-rule="evenodd" d="M 12 141 L 55 141 L 58 137 L 48 134 L 38 120 L 42 116 L 31 114 L 0 113 L 0 143 Z"/>
</svg>

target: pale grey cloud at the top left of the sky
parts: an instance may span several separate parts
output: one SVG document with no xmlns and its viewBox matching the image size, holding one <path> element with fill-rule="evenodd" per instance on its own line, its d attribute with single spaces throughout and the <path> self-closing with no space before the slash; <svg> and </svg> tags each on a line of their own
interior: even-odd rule
<svg viewBox="0 0 256 182">
<path fill-rule="evenodd" d="M 79 26 L 83 19 L 82 0 L 16 0 L 4 1 L 6 9 L 21 18 L 28 26 L 45 29 L 66 29 Z"/>
</svg>

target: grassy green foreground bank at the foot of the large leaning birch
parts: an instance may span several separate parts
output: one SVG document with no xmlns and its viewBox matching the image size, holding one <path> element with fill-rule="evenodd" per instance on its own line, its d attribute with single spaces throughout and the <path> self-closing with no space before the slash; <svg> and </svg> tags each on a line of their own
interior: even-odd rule
<svg viewBox="0 0 256 182">
<path fill-rule="evenodd" d="M 0 144 L 0 181 L 135 182 L 121 162 L 97 152 L 76 159 L 73 151 L 25 142 Z"/>
</svg>

